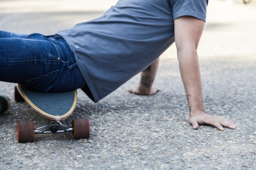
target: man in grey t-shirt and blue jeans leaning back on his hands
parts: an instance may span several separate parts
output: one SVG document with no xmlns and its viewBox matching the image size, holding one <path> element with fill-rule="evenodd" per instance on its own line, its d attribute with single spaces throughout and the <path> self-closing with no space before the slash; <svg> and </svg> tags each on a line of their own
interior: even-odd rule
<svg viewBox="0 0 256 170">
<path fill-rule="evenodd" d="M 152 70 L 150 75 L 142 73 L 142 87 L 130 92 L 150 95 L 157 91 L 151 86 L 157 58 L 175 37 L 189 122 L 194 129 L 201 124 L 219 130 L 235 128 L 233 121 L 204 112 L 196 49 L 207 4 L 208 0 L 119 0 L 103 16 L 56 35 L 2 32 L 0 80 L 44 92 L 82 88 L 92 101 L 99 102 L 148 68 Z"/>
</svg>

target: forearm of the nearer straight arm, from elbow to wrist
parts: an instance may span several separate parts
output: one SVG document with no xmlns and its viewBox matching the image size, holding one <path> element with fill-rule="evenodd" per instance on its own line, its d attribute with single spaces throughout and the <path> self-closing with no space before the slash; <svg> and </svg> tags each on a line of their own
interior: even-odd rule
<svg viewBox="0 0 256 170">
<path fill-rule="evenodd" d="M 178 58 L 180 74 L 188 99 L 189 111 L 193 115 L 195 111 L 204 111 L 201 75 L 196 51 L 190 53 L 186 51 L 189 50 L 178 52 Z"/>
</svg>

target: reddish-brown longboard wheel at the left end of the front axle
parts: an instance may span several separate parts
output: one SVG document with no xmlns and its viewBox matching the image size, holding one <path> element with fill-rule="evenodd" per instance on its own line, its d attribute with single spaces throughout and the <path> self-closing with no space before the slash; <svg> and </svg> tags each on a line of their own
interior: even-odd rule
<svg viewBox="0 0 256 170">
<path fill-rule="evenodd" d="M 32 142 L 35 140 L 35 129 L 33 121 L 24 121 L 17 123 L 18 142 Z"/>
</svg>

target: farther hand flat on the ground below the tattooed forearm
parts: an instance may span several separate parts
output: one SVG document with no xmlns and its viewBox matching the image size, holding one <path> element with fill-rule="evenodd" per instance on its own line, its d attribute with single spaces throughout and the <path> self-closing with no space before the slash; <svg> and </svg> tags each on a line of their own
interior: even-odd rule
<svg viewBox="0 0 256 170">
<path fill-rule="evenodd" d="M 128 88 L 126 91 L 130 92 L 130 93 L 134 93 L 136 95 L 153 95 L 157 92 L 159 92 L 160 90 L 158 88 L 155 88 L 154 86 L 152 86 L 151 88 L 145 88 L 141 86 L 133 86 L 131 88 Z"/>
</svg>

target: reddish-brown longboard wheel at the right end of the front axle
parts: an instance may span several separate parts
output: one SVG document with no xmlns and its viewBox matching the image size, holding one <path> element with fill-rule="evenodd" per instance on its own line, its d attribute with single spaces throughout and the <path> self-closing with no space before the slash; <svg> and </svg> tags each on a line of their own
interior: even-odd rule
<svg viewBox="0 0 256 170">
<path fill-rule="evenodd" d="M 86 119 L 73 119 L 73 138 L 84 139 L 90 137 L 90 121 Z"/>
</svg>

